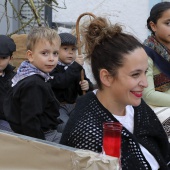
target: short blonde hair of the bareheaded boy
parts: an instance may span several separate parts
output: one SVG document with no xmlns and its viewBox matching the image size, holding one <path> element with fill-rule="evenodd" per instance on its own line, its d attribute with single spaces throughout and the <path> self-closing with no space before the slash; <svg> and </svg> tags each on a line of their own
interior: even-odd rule
<svg viewBox="0 0 170 170">
<path fill-rule="evenodd" d="M 57 40 L 58 43 L 61 43 L 60 37 L 56 30 L 48 27 L 35 27 L 28 34 L 27 50 L 32 51 L 34 49 L 35 44 L 42 39 L 49 41 L 50 44 L 53 44 L 54 40 Z"/>
</svg>

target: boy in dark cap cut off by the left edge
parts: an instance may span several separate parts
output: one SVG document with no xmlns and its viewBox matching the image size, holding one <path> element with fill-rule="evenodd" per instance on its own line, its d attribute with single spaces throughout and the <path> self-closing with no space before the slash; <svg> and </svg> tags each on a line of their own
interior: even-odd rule
<svg viewBox="0 0 170 170">
<path fill-rule="evenodd" d="M 14 51 L 16 44 L 13 39 L 0 35 L 0 129 L 7 131 L 11 131 L 11 128 L 4 115 L 3 102 L 11 87 L 11 79 L 15 75 L 15 67 L 9 64 Z"/>
</svg>

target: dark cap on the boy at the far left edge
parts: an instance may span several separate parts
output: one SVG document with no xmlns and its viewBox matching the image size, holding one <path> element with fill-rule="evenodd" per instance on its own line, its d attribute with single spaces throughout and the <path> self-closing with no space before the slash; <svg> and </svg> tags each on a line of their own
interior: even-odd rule
<svg viewBox="0 0 170 170">
<path fill-rule="evenodd" d="M 16 51 L 14 40 L 6 35 L 0 35 L 0 57 L 12 56 L 14 51 Z"/>
</svg>

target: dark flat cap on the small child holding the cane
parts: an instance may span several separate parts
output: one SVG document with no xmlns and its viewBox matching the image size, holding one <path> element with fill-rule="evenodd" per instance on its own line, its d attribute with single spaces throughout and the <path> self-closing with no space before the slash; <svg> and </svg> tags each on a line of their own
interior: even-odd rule
<svg viewBox="0 0 170 170">
<path fill-rule="evenodd" d="M 75 45 L 77 43 L 76 37 L 70 33 L 60 33 L 61 45 Z"/>
</svg>

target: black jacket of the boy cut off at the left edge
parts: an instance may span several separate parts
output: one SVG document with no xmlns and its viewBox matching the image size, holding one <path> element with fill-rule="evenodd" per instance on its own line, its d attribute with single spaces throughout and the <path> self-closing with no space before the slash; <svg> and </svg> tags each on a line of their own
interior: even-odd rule
<svg viewBox="0 0 170 170">
<path fill-rule="evenodd" d="M 0 76 L 0 119 L 6 120 L 3 113 L 3 102 L 8 90 L 11 88 L 11 79 L 16 74 L 15 67 L 10 64 L 4 69 L 4 76 Z"/>
</svg>

